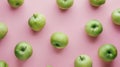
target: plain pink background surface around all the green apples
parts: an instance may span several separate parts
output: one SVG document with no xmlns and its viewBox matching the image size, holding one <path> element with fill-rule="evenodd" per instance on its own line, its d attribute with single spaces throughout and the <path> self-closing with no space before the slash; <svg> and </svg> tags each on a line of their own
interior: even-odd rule
<svg viewBox="0 0 120 67">
<path fill-rule="evenodd" d="M 93 8 L 89 0 L 74 0 L 67 11 L 58 9 L 56 0 L 25 0 L 23 6 L 12 9 L 7 0 L 0 0 L 0 21 L 8 25 L 9 32 L 0 41 L 0 60 L 9 67 L 74 67 L 74 59 L 87 54 L 93 60 L 93 67 L 120 66 L 120 26 L 111 22 L 111 12 L 120 7 L 119 0 L 107 0 Z M 46 26 L 41 32 L 34 33 L 28 26 L 28 18 L 39 12 L 46 16 Z M 98 19 L 104 30 L 97 38 L 88 37 L 84 31 L 87 21 Z M 63 50 L 56 50 L 50 44 L 53 32 L 64 32 L 69 36 L 69 44 Z M 30 42 L 33 55 L 27 61 L 19 61 L 14 55 L 14 47 L 20 41 Z M 114 44 L 118 49 L 117 58 L 105 63 L 98 58 L 97 50 L 105 43 Z"/>
</svg>

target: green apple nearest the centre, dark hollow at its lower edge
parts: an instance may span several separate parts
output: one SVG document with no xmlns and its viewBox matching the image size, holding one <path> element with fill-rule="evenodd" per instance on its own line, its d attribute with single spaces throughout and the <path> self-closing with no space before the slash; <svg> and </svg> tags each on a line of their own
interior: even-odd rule
<svg viewBox="0 0 120 67">
<path fill-rule="evenodd" d="M 62 49 L 68 44 L 68 36 L 62 32 L 55 32 L 51 35 L 51 44 L 53 47 Z"/>
</svg>

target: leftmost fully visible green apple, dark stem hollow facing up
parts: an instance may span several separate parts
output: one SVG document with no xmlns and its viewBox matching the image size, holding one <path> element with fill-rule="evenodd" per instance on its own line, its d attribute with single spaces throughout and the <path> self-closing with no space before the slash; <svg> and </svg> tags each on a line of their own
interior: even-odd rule
<svg viewBox="0 0 120 67">
<path fill-rule="evenodd" d="M 31 57 L 33 50 L 32 46 L 28 42 L 19 42 L 15 47 L 15 56 L 19 60 L 27 60 Z"/>
</svg>

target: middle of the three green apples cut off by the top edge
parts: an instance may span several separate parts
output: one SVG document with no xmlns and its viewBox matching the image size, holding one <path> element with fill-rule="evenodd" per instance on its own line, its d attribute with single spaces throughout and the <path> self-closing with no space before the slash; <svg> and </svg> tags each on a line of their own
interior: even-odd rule
<svg viewBox="0 0 120 67">
<path fill-rule="evenodd" d="M 66 10 L 72 7 L 74 0 L 56 0 L 60 9 Z"/>
</svg>

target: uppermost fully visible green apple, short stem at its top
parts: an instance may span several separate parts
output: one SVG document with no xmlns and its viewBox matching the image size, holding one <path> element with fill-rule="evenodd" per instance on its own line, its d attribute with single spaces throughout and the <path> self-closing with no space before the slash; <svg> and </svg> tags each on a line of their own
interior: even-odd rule
<svg viewBox="0 0 120 67">
<path fill-rule="evenodd" d="M 33 31 L 41 31 L 46 24 L 46 19 L 42 14 L 34 13 L 28 20 L 28 25 Z"/>
</svg>

